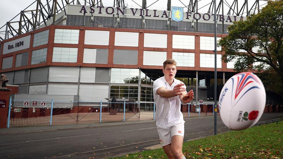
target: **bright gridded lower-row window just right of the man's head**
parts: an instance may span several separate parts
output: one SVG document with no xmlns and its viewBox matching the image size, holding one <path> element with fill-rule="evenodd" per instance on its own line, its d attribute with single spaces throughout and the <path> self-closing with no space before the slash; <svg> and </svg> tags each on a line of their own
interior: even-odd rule
<svg viewBox="0 0 283 159">
<path fill-rule="evenodd" d="M 177 62 L 177 66 L 195 67 L 195 53 L 172 52 L 172 59 Z"/>
</svg>

